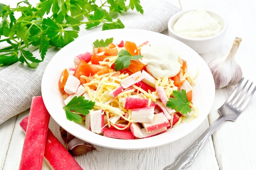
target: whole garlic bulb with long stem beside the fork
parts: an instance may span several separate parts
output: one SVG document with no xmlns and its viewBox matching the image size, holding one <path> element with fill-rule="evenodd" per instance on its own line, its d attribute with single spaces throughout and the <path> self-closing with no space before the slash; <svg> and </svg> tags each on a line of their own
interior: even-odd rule
<svg viewBox="0 0 256 170">
<path fill-rule="evenodd" d="M 233 46 L 225 57 L 218 57 L 209 62 L 208 66 L 213 75 L 216 88 L 237 85 L 242 79 L 242 69 L 234 60 L 241 41 L 242 38 L 236 37 Z"/>
</svg>

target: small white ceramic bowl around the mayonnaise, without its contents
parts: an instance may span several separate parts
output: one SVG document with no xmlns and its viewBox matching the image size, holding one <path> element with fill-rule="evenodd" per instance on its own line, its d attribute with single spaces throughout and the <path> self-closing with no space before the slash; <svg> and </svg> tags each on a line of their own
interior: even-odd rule
<svg viewBox="0 0 256 170">
<path fill-rule="evenodd" d="M 190 46 L 198 54 L 207 53 L 209 51 L 212 51 L 218 45 L 220 45 L 220 43 L 222 42 L 222 39 L 224 37 L 223 35 L 225 34 L 225 31 L 227 29 L 227 22 L 218 13 L 207 10 L 207 13 L 209 13 L 209 15 L 211 15 L 211 17 L 218 20 L 218 22 L 222 25 L 222 30 L 219 33 L 217 33 L 215 35 L 212 35 L 210 37 L 207 37 L 207 38 L 187 38 L 187 37 L 184 37 L 184 36 L 176 33 L 175 31 L 173 31 L 173 25 L 176 23 L 176 21 L 184 13 L 187 13 L 189 11 L 195 11 L 195 10 L 180 11 L 180 12 L 174 14 L 170 18 L 170 20 L 168 21 L 168 34 L 169 34 L 169 36 L 183 42 L 184 44 L 186 44 L 188 46 Z"/>
</svg>

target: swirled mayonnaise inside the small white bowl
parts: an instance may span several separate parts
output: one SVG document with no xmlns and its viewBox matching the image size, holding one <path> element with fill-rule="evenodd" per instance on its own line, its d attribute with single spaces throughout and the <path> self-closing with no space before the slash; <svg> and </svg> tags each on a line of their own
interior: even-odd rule
<svg viewBox="0 0 256 170">
<path fill-rule="evenodd" d="M 173 26 L 173 31 L 188 38 L 206 38 L 221 30 L 222 25 L 205 9 L 184 13 Z"/>
</svg>

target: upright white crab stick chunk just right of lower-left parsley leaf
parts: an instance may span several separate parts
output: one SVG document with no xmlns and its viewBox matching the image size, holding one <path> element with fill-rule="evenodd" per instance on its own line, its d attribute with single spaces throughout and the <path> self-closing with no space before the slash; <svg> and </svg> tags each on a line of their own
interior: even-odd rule
<svg viewBox="0 0 256 170">
<path fill-rule="evenodd" d="M 94 110 L 90 112 L 90 128 L 94 133 L 103 133 L 104 128 L 104 114 L 103 110 Z"/>
</svg>

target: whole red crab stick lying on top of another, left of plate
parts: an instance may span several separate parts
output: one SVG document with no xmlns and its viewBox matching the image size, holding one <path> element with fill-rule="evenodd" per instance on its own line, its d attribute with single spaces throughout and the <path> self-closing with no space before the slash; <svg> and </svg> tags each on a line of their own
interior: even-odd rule
<svg viewBox="0 0 256 170">
<path fill-rule="evenodd" d="M 19 170 L 41 170 L 50 115 L 42 96 L 32 98 Z"/>
</svg>

